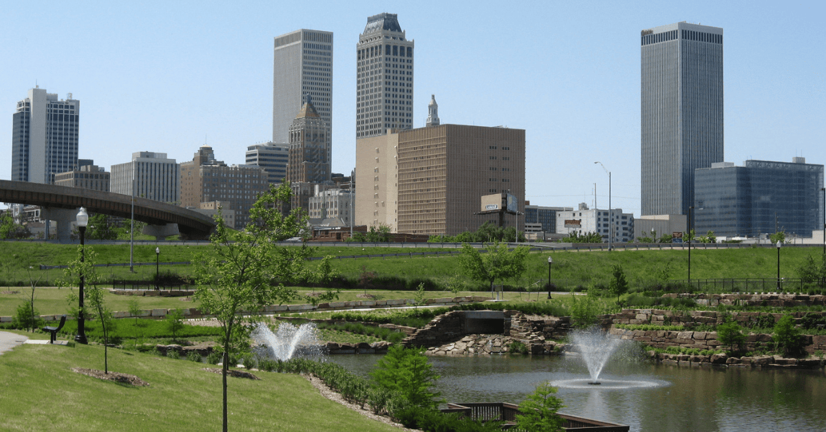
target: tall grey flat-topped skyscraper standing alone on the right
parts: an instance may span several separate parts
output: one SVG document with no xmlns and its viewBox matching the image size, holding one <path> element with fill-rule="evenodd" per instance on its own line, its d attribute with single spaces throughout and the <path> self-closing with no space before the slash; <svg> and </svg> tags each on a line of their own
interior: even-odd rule
<svg viewBox="0 0 826 432">
<path fill-rule="evenodd" d="M 723 29 L 643 30 L 642 214 L 685 215 L 694 170 L 723 161 Z"/>
</svg>

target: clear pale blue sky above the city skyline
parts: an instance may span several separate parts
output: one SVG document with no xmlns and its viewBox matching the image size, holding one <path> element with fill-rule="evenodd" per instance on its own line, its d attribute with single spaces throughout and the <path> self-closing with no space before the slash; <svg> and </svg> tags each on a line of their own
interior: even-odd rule
<svg viewBox="0 0 826 432">
<path fill-rule="evenodd" d="M 292 7 L 296 6 L 296 7 Z M 273 38 L 334 33 L 333 172 L 355 165 L 356 55 L 367 18 L 415 40 L 414 127 L 525 129 L 525 199 L 640 216 L 640 44 L 678 21 L 724 30 L 724 159 L 826 163 L 826 2 L 5 2 L 0 179 L 12 114 L 38 85 L 80 101 L 80 159 L 138 151 L 243 164 L 272 140 Z M 0 116 L 2 117 L 2 116 Z"/>
</svg>

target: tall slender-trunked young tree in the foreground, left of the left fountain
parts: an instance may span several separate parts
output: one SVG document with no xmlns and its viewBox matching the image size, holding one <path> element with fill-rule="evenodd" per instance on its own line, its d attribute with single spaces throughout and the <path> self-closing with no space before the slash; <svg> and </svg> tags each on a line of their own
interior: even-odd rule
<svg viewBox="0 0 826 432">
<path fill-rule="evenodd" d="M 283 203 L 290 202 L 291 195 L 287 183 L 278 188 L 271 185 L 250 209 L 250 222 L 242 231 L 227 228 L 219 213 L 216 230 L 210 237 L 211 254 L 200 254 L 196 259 L 195 297 L 202 310 L 215 316 L 221 326 L 223 430 L 227 430 L 226 375 L 230 353 L 248 346 L 243 323 L 251 318 L 240 312 L 255 314 L 263 306 L 297 297 L 297 292 L 285 284 L 327 276 L 305 267 L 312 251 L 306 245 L 276 245 L 296 237 L 306 225 L 306 216 L 302 217 L 300 211 L 283 215 L 278 210 Z M 333 298 L 335 292 L 328 290 L 325 297 Z"/>
</svg>

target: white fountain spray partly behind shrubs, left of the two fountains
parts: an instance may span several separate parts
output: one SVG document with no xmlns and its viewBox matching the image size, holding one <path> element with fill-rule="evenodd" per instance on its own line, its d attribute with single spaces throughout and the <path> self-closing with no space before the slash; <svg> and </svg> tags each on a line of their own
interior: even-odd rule
<svg viewBox="0 0 826 432">
<path fill-rule="evenodd" d="M 260 355 L 282 361 L 293 357 L 319 357 L 325 349 L 320 343 L 318 329 L 312 323 L 295 326 L 282 322 L 276 333 L 266 324 L 259 323 L 249 337 L 256 343 Z"/>
</svg>

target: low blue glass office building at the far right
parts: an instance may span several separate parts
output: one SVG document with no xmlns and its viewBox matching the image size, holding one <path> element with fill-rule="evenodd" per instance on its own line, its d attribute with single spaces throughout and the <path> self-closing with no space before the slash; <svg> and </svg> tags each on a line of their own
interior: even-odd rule
<svg viewBox="0 0 826 432">
<path fill-rule="evenodd" d="M 823 225 L 824 166 L 747 160 L 697 169 L 695 232 L 718 237 L 757 237 L 784 231 L 809 237 Z M 689 224 L 692 221 L 688 221 Z"/>
</svg>

